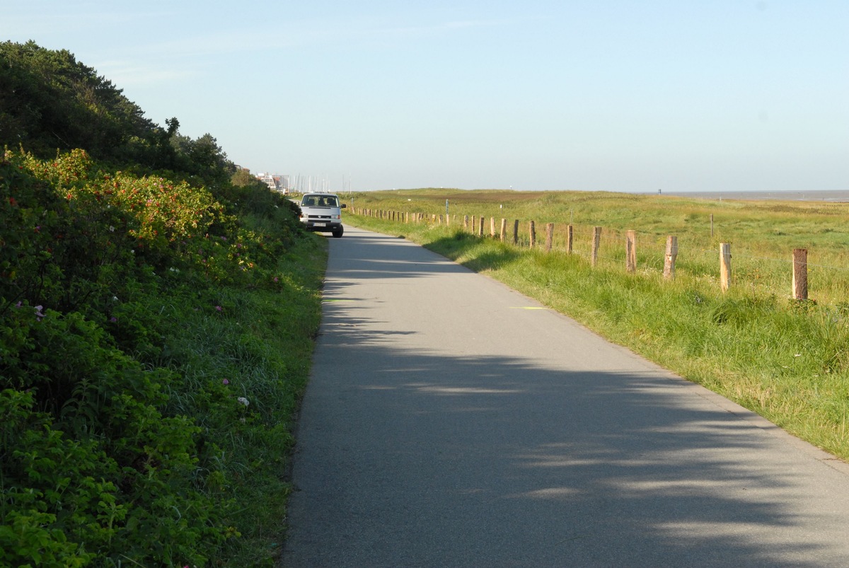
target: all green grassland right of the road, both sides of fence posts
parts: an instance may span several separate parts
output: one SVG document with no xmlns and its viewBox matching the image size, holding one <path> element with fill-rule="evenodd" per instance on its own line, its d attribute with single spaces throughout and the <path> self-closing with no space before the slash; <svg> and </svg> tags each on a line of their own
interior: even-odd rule
<svg viewBox="0 0 849 568">
<path fill-rule="evenodd" d="M 356 193 L 346 202 L 347 223 L 404 236 L 497 278 L 849 460 L 849 205 L 436 189 Z M 392 221 L 386 211 L 401 214 Z M 424 222 L 403 221 L 419 212 Z M 484 238 L 464 227 L 466 215 L 486 219 Z M 497 231 L 508 220 L 507 242 L 489 236 L 493 217 Z M 550 252 L 543 250 L 548 222 L 555 227 Z M 596 267 L 593 226 L 604 235 Z M 637 231 L 635 273 L 625 270 L 627 230 Z M 662 278 L 667 235 L 678 237 L 672 282 Z M 720 243 L 733 252 L 725 293 Z M 790 299 L 795 248 L 808 250 L 808 301 Z"/>
</svg>

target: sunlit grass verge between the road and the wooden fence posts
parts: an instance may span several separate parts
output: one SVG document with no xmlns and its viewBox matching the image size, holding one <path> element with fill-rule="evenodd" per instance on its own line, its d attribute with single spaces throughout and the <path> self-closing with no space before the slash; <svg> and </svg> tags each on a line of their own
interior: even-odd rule
<svg viewBox="0 0 849 568">
<path fill-rule="evenodd" d="M 589 329 L 849 460 L 849 326 L 839 306 L 715 278 L 627 274 L 563 252 L 520 250 L 459 229 L 349 216 L 508 284 Z"/>
</svg>

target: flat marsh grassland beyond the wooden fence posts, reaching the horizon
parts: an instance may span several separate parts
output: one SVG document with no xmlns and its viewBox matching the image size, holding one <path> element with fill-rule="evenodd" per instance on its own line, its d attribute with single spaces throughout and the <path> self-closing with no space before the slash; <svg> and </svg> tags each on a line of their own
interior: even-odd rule
<svg viewBox="0 0 849 568">
<path fill-rule="evenodd" d="M 588 257 L 593 227 L 603 228 L 599 262 L 624 266 L 625 233 L 637 231 L 638 267 L 661 272 L 666 236 L 678 236 L 678 271 L 718 273 L 720 243 L 732 245 L 734 285 L 759 293 L 790 295 L 793 249 L 808 250 L 810 295 L 821 303 L 849 298 L 849 204 L 804 201 L 695 200 L 607 192 L 507 192 L 420 189 L 354 194 L 354 205 L 384 211 L 445 213 L 452 228 L 464 215 L 520 222 L 520 245 L 528 224 L 537 242 L 554 223 L 554 248 L 565 250 L 566 227 L 574 227 L 574 253 Z M 350 201 L 350 200 L 349 200 Z M 711 234 L 711 215 L 713 216 Z"/>
</svg>

